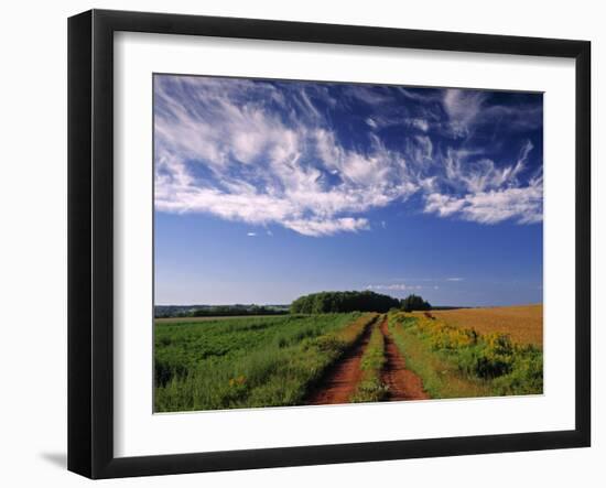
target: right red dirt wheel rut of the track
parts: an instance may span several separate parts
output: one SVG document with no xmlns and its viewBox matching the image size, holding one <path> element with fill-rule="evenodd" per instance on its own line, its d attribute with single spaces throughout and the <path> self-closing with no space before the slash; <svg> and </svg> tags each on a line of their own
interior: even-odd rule
<svg viewBox="0 0 606 488">
<path fill-rule="evenodd" d="M 381 323 L 381 333 L 385 337 L 386 364 L 381 371 L 381 381 L 389 391 L 387 401 L 425 400 L 430 397 L 423 390 L 421 378 L 405 368 L 404 358 L 393 343 L 387 327 L 387 317 Z"/>
</svg>

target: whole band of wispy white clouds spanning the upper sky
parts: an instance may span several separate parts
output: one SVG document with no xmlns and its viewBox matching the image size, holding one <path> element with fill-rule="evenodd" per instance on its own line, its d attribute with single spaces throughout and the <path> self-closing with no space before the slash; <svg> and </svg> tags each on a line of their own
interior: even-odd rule
<svg viewBox="0 0 606 488">
<path fill-rule="evenodd" d="M 429 120 L 435 115 L 385 116 L 391 99 L 382 89 L 353 86 L 338 101 L 380 107 L 364 119 L 364 144 L 346 144 L 323 113 L 337 100 L 317 84 L 279 89 L 244 79 L 161 76 L 154 86 L 161 212 L 208 213 L 321 237 L 367 230 L 368 212 L 420 193 L 423 210 L 440 217 L 479 224 L 542 218 L 542 173 L 520 180 L 530 142 L 509 165 L 465 145 L 441 148 Z M 479 91 L 402 90 L 432 107 L 442 104 L 456 137 L 469 133 L 484 111 Z M 494 111 L 505 117 L 507 110 Z M 400 149 L 377 135 L 391 124 L 402 127 Z"/>
</svg>

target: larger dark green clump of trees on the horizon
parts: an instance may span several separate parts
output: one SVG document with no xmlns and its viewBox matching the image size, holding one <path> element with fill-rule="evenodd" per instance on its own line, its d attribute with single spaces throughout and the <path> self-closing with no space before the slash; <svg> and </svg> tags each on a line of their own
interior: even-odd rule
<svg viewBox="0 0 606 488">
<path fill-rule="evenodd" d="M 321 292 L 300 296 L 291 304 L 292 314 L 334 314 L 349 312 L 386 313 L 400 301 L 371 291 Z"/>
</svg>

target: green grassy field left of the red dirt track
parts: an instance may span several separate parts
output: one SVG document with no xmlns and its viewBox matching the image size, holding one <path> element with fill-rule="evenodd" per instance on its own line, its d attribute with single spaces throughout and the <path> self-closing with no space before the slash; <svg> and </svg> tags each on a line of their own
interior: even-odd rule
<svg viewBox="0 0 606 488">
<path fill-rule="evenodd" d="M 376 314 L 156 323 L 156 412 L 301 404 Z"/>
</svg>

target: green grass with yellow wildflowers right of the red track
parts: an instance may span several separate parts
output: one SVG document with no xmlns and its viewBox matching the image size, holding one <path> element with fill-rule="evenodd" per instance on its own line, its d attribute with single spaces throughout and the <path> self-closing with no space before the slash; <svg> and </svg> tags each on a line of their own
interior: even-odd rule
<svg viewBox="0 0 606 488">
<path fill-rule="evenodd" d="M 391 314 L 389 328 L 407 366 L 431 398 L 539 394 L 543 355 L 507 335 L 480 335 L 441 321 Z"/>
</svg>

